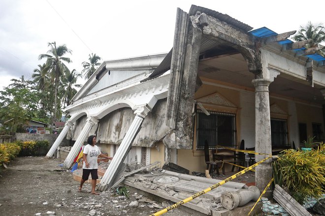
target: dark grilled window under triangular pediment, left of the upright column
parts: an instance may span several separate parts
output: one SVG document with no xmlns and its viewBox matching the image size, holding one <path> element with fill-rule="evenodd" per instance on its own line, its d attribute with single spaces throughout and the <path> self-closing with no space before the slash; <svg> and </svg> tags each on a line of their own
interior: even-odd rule
<svg viewBox="0 0 325 216">
<path fill-rule="evenodd" d="M 204 149 L 207 140 L 209 149 L 218 146 L 235 147 L 236 119 L 235 114 L 209 112 L 205 115 L 202 111 L 196 112 L 196 149 Z"/>
</svg>

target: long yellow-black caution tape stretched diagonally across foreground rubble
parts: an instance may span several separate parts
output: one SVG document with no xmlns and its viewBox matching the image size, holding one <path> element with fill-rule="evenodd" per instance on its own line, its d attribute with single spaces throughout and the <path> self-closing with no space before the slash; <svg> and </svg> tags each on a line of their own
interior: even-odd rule
<svg viewBox="0 0 325 216">
<path fill-rule="evenodd" d="M 180 201 L 178 203 L 175 203 L 174 205 L 171 205 L 171 206 L 169 206 L 169 207 L 167 207 L 167 208 L 165 208 L 165 209 L 163 209 L 163 210 L 161 210 L 159 212 L 156 212 L 155 214 L 150 215 L 150 216 L 160 216 L 162 214 L 165 214 L 166 212 L 168 212 L 170 210 L 173 210 L 173 209 L 175 209 L 175 208 L 183 205 L 184 203 L 187 203 L 187 202 L 189 202 L 189 201 L 191 201 L 191 200 L 193 200 L 193 199 L 195 199 L 195 198 L 197 198 L 197 197 L 199 197 L 199 196 L 201 196 L 201 195 L 209 192 L 210 190 L 213 190 L 213 189 L 217 188 L 218 186 L 224 185 L 225 183 L 229 182 L 230 180 L 233 180 L 233 179 L 235 179 L 235 178 L 243 175 L 247 171 L 252 170 L 254 167 L 260 165 L 262 162 L 264 162 L 265 160 L 267 160 L 267 159 L 269 159 L 271 157 L 272 156 L 266 157 L 266 158 L 262 159 L 261 161 L 253 164 L 252 166 L 249 166 L 249 167 L 245 168 L 244 170 L 242 170 L 242 171 L 240 171 L 240 172 L 238 172 L 238 173 L 230 176 L 229 178 L 227 178 L 227 179 L 219 182 L 218 184 L 212 185 L 211 187 L 208 187 L 205 190 L 202 190 L 201 192 L 195 193 L 193 196 L 190 196 L 190 197 L 188 197 L 188 198 L 186 198 L 186 199 L 184 199 L 184 200 L 182 200 L 182 201 Z"/>
</svg>

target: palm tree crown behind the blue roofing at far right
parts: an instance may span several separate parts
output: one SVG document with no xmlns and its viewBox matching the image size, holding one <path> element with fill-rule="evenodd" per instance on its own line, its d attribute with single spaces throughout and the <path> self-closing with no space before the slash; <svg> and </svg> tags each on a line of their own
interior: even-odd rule
<svg viewBox="0 0 325 216">
<path fill-rule="evenodd" d="M 306 44 L 306 48 L 317 47 L 320 43 L 325 42 L 325 27 L 323 24 L 314 26 L 310 21 L 306 26 L 300 26 L 300 30 L 292 37 L 294 41 L 303 41 L 312 39 L 312 42 Z M 324 52 L 320 51 L 319 54 L 324 56 Z"/>
</svg>

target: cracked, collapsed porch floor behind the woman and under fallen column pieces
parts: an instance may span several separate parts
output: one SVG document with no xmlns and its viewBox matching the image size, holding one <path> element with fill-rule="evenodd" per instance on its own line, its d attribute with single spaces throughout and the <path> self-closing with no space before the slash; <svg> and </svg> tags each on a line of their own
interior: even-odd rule
<svg viewBox="0 0 325 216">
<path fill-rule="evenodd" d="M 97 184 L 104 175 L 108 163 L 100 162 L 98 165 Z M 230 175 L 230 173 L 229 173 Z M 75 170 L 72 173 L 74 180 L 80 182 L 82 176 L 82 168 Z M 179 202 L 185 198 L 200 192 L 211 185 L 215 185 L 222 180 L 207 179 L 204 177 L 191 176 L 186 174 L 175 173 L 167 170 L 153 170 L 146 174 L 133 174 L 123 181 L 124 185 L 133 187 L 142 191 L 146 196 L 150 196 L 157 200 L 170 200 L 172 202 Z M 91 182 L 91 177 L 87 181 Z M 244 183 L 227 182 L 206 194 L 203 194 L 194 200 L 183 204 L 183 210 L 192 212 L 195 215 L 213 215 L 213 216 L 235 216 L 247 215 L 254 206 L 254 202 L 250 202 L 245 206 L 238 207 L 234 210 L 228 211 L 224 209 L 220 203 L 221 193 L 224 191 L 236 191 L 244 186 Z M 256 213 L 260 212 L 261 204 L 255 207 Z M 254 215 L 254 214 L 253 214 Z"/>
</svg>

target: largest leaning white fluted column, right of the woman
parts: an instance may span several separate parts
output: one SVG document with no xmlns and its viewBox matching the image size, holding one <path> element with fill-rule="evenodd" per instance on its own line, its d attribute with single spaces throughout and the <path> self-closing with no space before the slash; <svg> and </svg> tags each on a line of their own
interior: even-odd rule
<svg viewBox="0 0 325 216">
<path fill-rule="evenodd" d="M 109 164 L 104 176 L 101 178 L 100 183 L 98 185 L 98 190 L 104 191 L 114 185 L 116 180 L 118 180 L 118 175 L 120 174 L 119 169 L 123 166 L 123 162 L 130 152 L 132 142 L 135 136 L 138 134 L 140 130 L 140 126 L 147 116 L 149 109 L 146 106 L 142 106 L 141 108 L 135 110 L 134 120 L 130 125 L 130 128 L 125 135 L 120 148 L 116 151 L 111 163 Z"/>
</svg>

